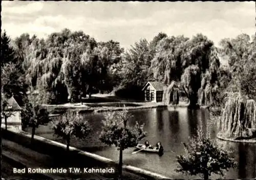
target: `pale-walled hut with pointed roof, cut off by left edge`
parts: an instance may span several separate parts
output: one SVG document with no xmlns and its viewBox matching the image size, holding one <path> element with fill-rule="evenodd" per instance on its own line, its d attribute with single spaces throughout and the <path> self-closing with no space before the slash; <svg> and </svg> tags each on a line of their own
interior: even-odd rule
<svg viewBox="0 0 256 180">
<path fill-rule="evenodd" d="M 12 126 L 17 128 L 18 130 L 22 130 L 22 118 L 20 117 L 20 113 L 22 112 L 22 108 L 18 105 L 17 101 L 12 96 L 7 100 L 7 106 L 1 112 L 2 124 L 5 124 L 5 116 L 7 117 L 7 127 Z"/>
</svg>

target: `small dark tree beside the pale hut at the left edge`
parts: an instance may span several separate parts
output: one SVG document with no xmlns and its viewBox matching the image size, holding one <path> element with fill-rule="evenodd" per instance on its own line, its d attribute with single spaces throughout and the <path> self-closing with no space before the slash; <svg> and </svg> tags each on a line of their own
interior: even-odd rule
<svg viewBox="0 0 256 180">
<path fill-rule="evenodd" d="M 35 88 L 32 87 L 31 78 L 28 98 L 25 102 L 24 110 L 21 113 L 23 127 L 27 125 L 32 127 L 31 143 L 34 140 L 35 130 L 39 125 L 45 125 L 49 123 L 49 112 L 41 107 L 42 99 L 44 94 L 40 91 L 36 92 Z M 39 88 L 40 89 L 40 88 Z"/>
</svg>

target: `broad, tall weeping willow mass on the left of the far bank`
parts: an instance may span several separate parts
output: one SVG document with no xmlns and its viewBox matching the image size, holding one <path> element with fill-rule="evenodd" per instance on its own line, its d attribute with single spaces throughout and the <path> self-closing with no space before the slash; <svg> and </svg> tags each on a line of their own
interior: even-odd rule
<svg viewBox="0 0 256 180">
<path fill-rule="evenodd" d="M 108 67 L 118 63 L 122 51 L 118 42 L 97 43 L 81 31 L 64 29 L 46 40 L 35 38 L 24 65 L 33 86 L 44 88 L 48 103 L 78 102 L 93 89 L 106 89 Z"/>
</svg>

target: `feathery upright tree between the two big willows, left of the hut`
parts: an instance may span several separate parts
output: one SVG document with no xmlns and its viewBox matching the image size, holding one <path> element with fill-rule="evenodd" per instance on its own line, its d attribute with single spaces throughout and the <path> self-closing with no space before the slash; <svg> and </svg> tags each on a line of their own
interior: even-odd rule
<svg viewBox="0 0 256 180">
<path fill-rule="evenodd" d="M 150 44 L 146 39 L 135 42 L 123 55 L 115 70 L 118 70 L 121 83 L 115 94 L 125 98 L 141 99 L 142 87 L 150 81 L 150 66 L 152 56 Z"/>
</svg>

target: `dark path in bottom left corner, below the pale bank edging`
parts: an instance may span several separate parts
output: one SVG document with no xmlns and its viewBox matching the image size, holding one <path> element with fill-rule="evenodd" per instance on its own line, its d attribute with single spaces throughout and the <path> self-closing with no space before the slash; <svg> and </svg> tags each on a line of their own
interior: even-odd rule
<svg viewBox="0 0 256 180">
<path fill-rule="evenodd" d="M 56 167 L 67 167 L 63 165 L 63 162 L 60 162 L 58 159 L 55 159 L 53 157 L 50 157 L 48 155 L 33 151 L 27 147 L 24 147 L 22 145 L 19 145 L 17 143 L 14 143 L 12 141 L 8 141 L 6 139 L 2 139 L 2 147 L 3 147 L 3 157 L 5 160 L 9 161 L 8 163 L 3 164 L 4 168 L 7 169 L 4 178 L 14 178 L 16 176 L 20 176 L 20 174 L 13 174 L 12 170 L 10 171 L 10 164 L 14 164 L 17 166 L 17 168 L 21 167 L 30 167 L 30 168 L 56 168 Z M 65 157 L 63 158 L 65 159 Z M 67 158 L 66 158 L 67 159 Z M 7 162 L 7 161 L 5 161 Z M 11 162 L 11 163 L 10 163 Z M 87 167 L 87 165 L 90 164 L 90 162 L 84 162 L 84 167 Z M 73 167 L 73 166 L 71 166 Z M 78 167 L 78 166 L 77 166 Z M 89 166 L 88 166 L 89 167 Z M 8 170 L 9 169 L 9 170 Z M 6 177 L 8 176 L 8 177 Z M 110 179 L 115 178 L 117 175 L 102 175 L 102 174 L 96 174 L 96 173 L 65 173 L 65 174 L 32 174 L 28 176 L 28 174 L 22 174 L 23 178 L 36 178 L 36 179 Z M 18 177 L 16 177 L 18 178 Z M 133 173 L 129 172 L 123 172 L 123 178 L 124 179 L 142 179 L 140 176 L 135 175 Z"/>
</svg>

